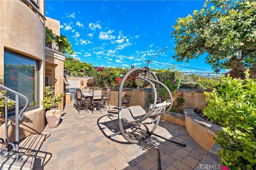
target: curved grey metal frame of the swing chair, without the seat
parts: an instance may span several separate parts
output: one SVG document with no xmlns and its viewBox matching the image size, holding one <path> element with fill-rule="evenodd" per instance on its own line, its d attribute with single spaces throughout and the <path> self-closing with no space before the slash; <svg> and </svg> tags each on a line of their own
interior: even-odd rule
<svg viewBox="0 0 256 170">
<path fill-rule="evenodd" d="M 153 102 L 153 106 L 151 107 L 151 109 L 149 109 L 148 113 L 146 113 L 144 116 L 134 120 L 134 121 L 128 121 L 126 123 L 129 123 L 130 125 L 133 125 L 132 128 L 129 128 L 129 129 L 136 129 L 136 130 L 140 130 L 142 132 L 146 132 L 146 135 L 144 137 L 135 137 L 133 134 L 131 134 L 130 132 L 127 132 L 128 129 L 125 129 L 123 128 L 123 115 L 122 115 L 122 109 L 124 109 L 124 107 L 122 107 L 122 91 L 123 91 L 123 87 L 124 87 L 124 83 L 125 83 L 125 80 L 127 78 L 129 78 L 129 76 L 133 73 L 133 72 L 139 72 L 137 78 L 141 79 L 141 80 L 144 80 L 144 81 L 147 81 L 152 87 L 153 87 L 153 90 L 154 90 L 154 102 Z M 144 76 L 140 76 L 141 73 L 144 73 Z M 149 74 L 149 78 L 146 77 L 146 75 Z M 151 79 L 150 78 L 150 75 L 153 75 L 154 79 Z M 156 91 L 156 87 L 155 87 L 155 84 L 158 84 L 157 88 L 158 88 L 158 92 L 159 92 L 159 95 L 157 95 L 157 91 Z M 168 92 L 169 96 L 170 96 L 170 101 L 171 101 L 171 104 L 169 105 L 169 107 L 165 110 L 165 112 L 168 112 L 170 111 L 171 107 L 172 107 L 172 104 L 173 104 L 173 98 L 172 98 L 172 94 L 170 92 L 170 90 L 165 86 L 164 83 L 158 81 L 156 75 L 154 72 L 150 71 L 149 67 L 146 66 L 146 67 L 143 67 L 143 68 L 134 68 L 134 69 L 131 69 L 130 71 L 128 71 L 121 84 L 120 84 L 120 87 L 119 87 L 119 91 L 118 91 L 118 106 L 116 107 L 117 109 L 117 114 L 118 114 L 118 126 L 119 126 L 119 132 L 116 132 L 114 134 L 111 134 L 109 135 L 109 138 L 111 137 L 114 137 L 115 135 L 118 135 L 118 134 L 122 134 L 122 136 L 124 137 L 124 139 L 127 141 L 127 142 L 130 142 L 130 143 L 139 143 L 141 141 L 145 141 L 145 139 L 149 138 L 151 135 L 155 135 L 156 137 L 158 138 L 162 138 L 166 141 L 169 141 L 169 142 L 172 142 L 172 143 L 175 143 L 177 145 L 180 145 L 180 146 L 183 146 L 183 147 L 186 147 L 185 144 L 183 143 L 180 143 L 180 142 L 177 142 L 177 141 L 173 141 L 173 140 L 170 140 L 170 139 L 167 139 L 167 138 L 164 138 L 162 137 L 161 135 L 158 135 L 158 134 L 155 134 L 155 130 L 159 124 L 159 120 L 160 120 L 160 117 L 161 117 L 161 114 L 158 114 L 157 113 L 157 117 L 151 122 L 151 123 L 145 123 L 143 121 L 147 120 L 150 116 L 153 116 L 154 112 L 155 112 L 155 109 L 156 109 L 156 105 L 157 105 L 157 101 L 161 102 L 161 91 L 160 91 L 160 87 L 163 86 L 165 88 L 165 90 Z M 158 96 L 158 100 L 157 100 L 157 96 Z M 165 108 L 164 108 L 165 109 Z M 163 110 L 161 110 L 162 112 Z M 153 129 L 151 131 L 149 131 L 148 129 L 147 130 L 144 130 L 144 129 L 141 129 L 140 128 L 140 125 L 146 125 L 146 124 L 154 124 L 153 126 Z"/>
</svg>

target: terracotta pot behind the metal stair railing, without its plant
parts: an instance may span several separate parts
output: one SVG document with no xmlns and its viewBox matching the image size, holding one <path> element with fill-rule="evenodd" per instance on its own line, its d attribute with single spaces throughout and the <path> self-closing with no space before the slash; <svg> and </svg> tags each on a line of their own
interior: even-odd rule
<svg viewBox="0 0 256 170">
<path fill-rule="evenodd" d="M 9 142 L 13 142 L 15 139 L 15 126 L 12 121 L 7 121 L 7 137 Z M 12 134 L 13 133 L 13 134 Z M 0 118 L 0 138 L 5 140 L 5 119 Z M 2 140 L 0 140 L 0 147 L 2 146 Z M 7 147 L 7 144 L 4 144 L 4 148 Z"/>
</svg>

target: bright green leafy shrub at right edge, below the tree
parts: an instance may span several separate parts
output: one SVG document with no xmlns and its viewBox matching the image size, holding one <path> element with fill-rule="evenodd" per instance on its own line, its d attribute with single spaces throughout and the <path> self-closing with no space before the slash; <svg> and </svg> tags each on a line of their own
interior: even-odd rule
<svg viewBox="0 0 256 170">
<path fill-rule="evenodd" d="M 205 93 L 203 113 L 223 127 L 214 139 L 229 169 L 256 169 L 256 81 L 245 74 L 244 80 L 222 77 L 218 89 Z"/>
</svg>

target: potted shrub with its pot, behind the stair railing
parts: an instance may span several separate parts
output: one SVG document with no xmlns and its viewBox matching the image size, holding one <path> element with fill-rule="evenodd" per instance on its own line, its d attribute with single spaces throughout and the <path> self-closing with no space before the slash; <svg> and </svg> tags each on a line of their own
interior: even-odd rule
<svg viewBox="0 0 256 170">
<path fill-rule="evenodd" d="M 3 84 L 3 79 L 0 79 L 0 84 Z M 0 95 L 6 96 L 6 90 L 0 89 Z M 12 109 L 15 103 L 13 101 L 7 101 L 8 109 Z M 5 139 L 5 118 L 4 118 L 4 110 L 5 110 L 5 99 L 0 97 L 0 138 Z M 7 137 L 10 140 L 12 136 L 12 131 L 15 129 L 12 121 L 7 121 Z M 0 140 L 2 143 L 2 140 Z M 6 145 L 4 147 L 7 147 Z"/>
</svg>

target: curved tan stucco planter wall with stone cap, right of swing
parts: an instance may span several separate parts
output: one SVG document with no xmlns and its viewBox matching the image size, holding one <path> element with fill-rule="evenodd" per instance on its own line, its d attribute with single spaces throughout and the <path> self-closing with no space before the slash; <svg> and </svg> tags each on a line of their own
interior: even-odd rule
<svg viewBox="0 0 256 170">
<path fill-rule="evenodd" d="M 215 143 L 213 137 L 217 137 L 215 132 L 221 131 L 222 128 L 196 115 L 194 110 L 193 108 L 185 108 L 184 114 L 175 112 L 164 113 L 161 119 L 185 126 L 190 137 L 204 150 L 208 151 L 195 168 L 196 170 L 207 169 L 205 165 L 211 165 L 214 169 L 220 169 L 222 166 L 221 157 L 218 155 L 220 146 Z"/>
</svg>

